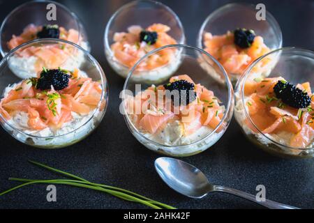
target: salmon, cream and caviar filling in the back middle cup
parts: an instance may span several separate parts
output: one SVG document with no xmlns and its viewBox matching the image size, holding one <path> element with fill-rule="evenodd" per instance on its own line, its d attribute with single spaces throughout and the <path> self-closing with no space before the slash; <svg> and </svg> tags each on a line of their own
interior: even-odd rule
<svg viewBox="0 0 314 223">
<path fill-rule="evenodd" d="M 112 45 L 112 68 L 123 77 L 127 77 L 132 68 L 142 56 L 158 47 L 177 44 L 167 32 L 170 27 L 165 24 L 152 24 L 146 29 L 141 26 L 130 26 L 128 32 L 114 33 Z M 110 58 L 110 57 L 108 57 Z M 148 79 L 151 82 L 168 79 L 181 63 L 178 52 L 174 49 L 165 50 L 150 56 L 137 67 L 133 79 L 141 82 Z"/>
</svg>

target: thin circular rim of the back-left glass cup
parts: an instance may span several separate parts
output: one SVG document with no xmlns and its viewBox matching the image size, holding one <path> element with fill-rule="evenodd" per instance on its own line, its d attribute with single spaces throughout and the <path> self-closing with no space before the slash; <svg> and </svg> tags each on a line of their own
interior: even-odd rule
<svg viewBox="0 0 314 223">
<path fill-rule="evenodd" d="M 75 13 L 73 13 L 73 11 L 71 11 L 70 9 L 68 9 L 66 6 L 64 6 L 63 4 L 57 2 L 57 1 L 50 1 L 50 0 L 33 0 L 33 1 L 27 1 L 25 3 L 22 3 L 20 6 L 17 6 L 16 8 L 14 8 L 12 11 L 10 11 L 10 13 L 8 15 L 6 15 L 6 17 L 4 18 L 3 22 L 1 23 L 0 26 L 0 33 L 2 33 L 4 25 L 6 24 L 8 18 L 15 13 L 17 10 L 19 10 L 20 8 L 27 6 L 28 4 L 32 4 L 32 3 L 53 3 L 55 5 L 57 5 L 60 8 L 63 8 L 63 10 L 66 10 L 70 15 L 73 16 L 73 18 L 75 18 L 75 22 L 77 23 L 77 32 L 79 33 L 79 35 L 81 34 L 81 27 L 80 27 L 80 18 L 77 17 L 77 15 Z M 2 40 L 2 35 L 0 35 L 0 43 Z M 49 38 L 42 38 L 42 39 L 49 39 Z M 30 41 L 29 41 L 30 42 Z M 2 49 L 2 45 L 0 44 L 0 53 L 2 56 L 5 56 L 6 54 L 8 54 L 8 52 L 3 52 Z"/>
</svg>

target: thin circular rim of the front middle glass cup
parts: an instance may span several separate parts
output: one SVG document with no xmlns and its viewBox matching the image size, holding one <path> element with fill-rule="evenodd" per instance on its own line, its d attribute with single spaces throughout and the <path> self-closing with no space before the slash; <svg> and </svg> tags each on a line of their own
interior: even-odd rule
<svg viewBox="0 0 314 223">
<path fill-rule="evenodd" d="M 200 48 L 197 48 L 197 47 L 192 47 L 192 46 L 189 46 L 189 45 L 184 45 L 184 44 L 174 44 L 174 45 L 166 45 L 166 46 L 163 46 L 163 47 L 159 47 L 157 49 L 154 49 L 152 50 L 151 52 L 149 52 L 148 54 L 146 54 L 145 56 L 143 56 L 139 61 L 137 61 L 137 63 L 135 63 L 135 65 L 133 66 L 133 68 L 130 69 L 130 71 L 128 72 L 128 77 L 126 77 L 126 81 L 124 82 L 124 89 L 123 89 L 123 94 L 122 94 L 122 98 L 126 98 L 126 87 L 127 87 L 127 84 L 128 84 L 128 81 L 130 79 L 130 76 L 132 75 L 133 71 L 135 71 L 135 68 L 137 67 L 138 64 L 140 64 L 144 59 L 146 59 L 147 56 L 150 56 L 151 54 L 154 54 L 155 52 L 158 52 L 160 50 L 163 50 L 163 49 L 166 49 L 166 48 L 188 48 L 188 49 L 192 49 L 192 50 L 195 50 L 197 51 L 198 53 L 200 54 L 205 54 L 206 56 L 209 56 L 209 58 L 211 60 L 213 60 L 216 65 L 218 66 L 218 68 L 223 72 L 223 75 L 226 79 L 226 86 L 227 86 L 227 90 L 228 90 L 228 94 L 227 94 L 227 105 L 225 107 L 225 114 L 223 114 L 223 118 L 221 118 L 220 122 L 218 123 L 218 125 L 216 126 L 216 128 L 214 128 L 214 130 L 212 130 L 211 132 L 209 132 L 209 134 L 206 134 L 204 137 L 202 137 L 202 139 L 199 139 L 197 141 L 194 141 L 190 144 L 185 144 L 185 145 L 179 145 L 179 146 L 171 146 L 171 145 L 165 145 L 165 144 L 160 144 L 152 139 L 149 139 L 148 137 L 145 137 L 144 134 L 142 134 L 142 132 L 140 132 L 136 127 L 135 125 L 133 124 L 132 121 L 130 121 L 130 118 L 128 116 L 128 114 L 126 113 L 126 107 L 125 107 L 125 104 L 124 102 L 123 103 L 123 106 L 122 108 L 124 109 L 124 119 L 126 121 L 126 123 L 130 123 L 130 125 L 132 126 L 132 128 L 135 130 L 135 132 L 137 134 L 140 134 L 141 137 L 143 137 L 145 140 L 149 141 L 150 143 L 152 144 L 155 144 L 157 146 L 163 146 L 163 147 L 167 147 L 167 148 L 172 148 L 172 147 L 177 147 L 177 148 L 182 148 L 182 147 L 185 147 L 185 146 L 193 146 L 195 144 L 198 144 L 200 141 L 203 141 L 204 139 L 208 139 L 209 137 L 211 137 L 211 135 L 213 135 L 217 130 L 218 128 L 220 127 L 220 125 L 222 125 L 225 121 L 225 119 L 227 118 L 228 116 L 228 113 L 230 111 L 230 109 L 232 109 L 232 101 L 233 101 L 233 96 L 232 96 L 232 93 L 233 93 L 233 89 L 232 89 L 232 84 L 230 82 L 230 79 L 227 75 L 227 72 L 225 71 L 225 68 L 223 68 L 223 66 L 214 58 L 214 56 L 211 56 L 211 54 L 205 52 L 203 49 L 200 49 Z M 208 62 L 207 62 L 208 63 Z M 128 126 L 128 128 L 130 129 L 130 127 Z M 131 129 L 130 129 L 131 130 Z M 133 130 L 131 130 L 132 132 Z"/>
</svg>

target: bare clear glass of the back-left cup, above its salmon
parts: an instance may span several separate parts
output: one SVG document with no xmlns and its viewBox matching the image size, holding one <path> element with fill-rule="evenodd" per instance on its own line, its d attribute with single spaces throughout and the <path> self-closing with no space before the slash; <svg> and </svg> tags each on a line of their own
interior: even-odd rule
<svg viewBox="0 0 314 223">
<path fill-rule="evenodd" d="M 54 4 L 56 7 L 57 20 L 47 20 L 47 13 L 49 12 L 47 6 L 49 4 Z M 71 42 L 80 45 L 87 51 L 90 50 L 87 33 L 75 13 L 71 12 L 66 6 L 54 1 L 29 1 L 12 10 L 1 24 L 0 52 L 2 56 L 6 55 L 12 48 L 8 46 L 8 43 L 13 38 L 13 35 L 20 36 L 23 30 L 30 24 L 36 27 L 46 24 L 57 24 L 59 27 L 66 29 L 66 31 L 73 29 L 77 31 L 79 37 L 71 38 Z"/>
</svg>

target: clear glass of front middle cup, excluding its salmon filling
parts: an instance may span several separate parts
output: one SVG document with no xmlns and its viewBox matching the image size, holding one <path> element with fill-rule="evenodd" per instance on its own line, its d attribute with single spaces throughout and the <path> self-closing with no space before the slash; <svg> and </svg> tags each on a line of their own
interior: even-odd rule
<svg viewBox="0 0 314 223">
<path fill-rule="evenodd" d="M 128 114 L 127 105 L 128 105 L 128 97 L 134 96 L 139 93 L 139 90 L 144 91 L 147 89 L 150 84 L 136 84 L 132 81 L 132 76 L 135 75 L 134 72 L 137 69 L 137 66 L 140 66 L 140 63 L 143 63 L 148 56 L 152 56 L 157 54 L 160 51 L 169 51 L 169 50 L 178 50 L 181 51 L 181 59 L 182 63 L 177 72 L 174 75 L 189 75 L 191 79 L 195 82 L 195 84 L 201 84 L 207 89 L 214 91 L 215 96 L 222 102 L 225 106 L 225 112 L 223 112 L 223 117 L 221 118 L 220 123 L 216 125 L 216 128 L 213 130 L 209 130 L 206 132 L 204 137 L 201 139 L 195 139 L 190 144 L 180 144 L 177 146 L 171 146 L 164 143 L 157 142 L 156 140 L 152 140 L 149 136 L 138 129 L 132 121 L 130 113 Z M 210 62 L 210 63 L 209 63 Z M 219 72 L 223 77 L 225 77 L 225 83 L 221 84 L 217 82 L 211 75 L 207 75 L 207 73 L 202 69 L 202 63 L 209 63 L 209 66 L 212 66 L 213 70 Z M 172 76 L 173 77 L 173 76 Z M 161 84 L 168 83 L 169 80 L 164 81 Z M 160 84 L 159 82 L 156 83 Z M 165 47 L 160 47 L 155 49 L 149 54 L 145 55 L 140 61 L 138 61 L 135 66 L 130 70 L 128 77 L 126 78 L 126 82 L 124 84 L 124 91 L 121 95 L 122 97 L 122 106 L 121 112 L 124 114 L 124 118 L 126 120 L 126 124 L 130 129 L 130 132 L 134 135 L 134 137 L 140 141 L 141 144 L 146 146 L 152 151 L 157 153 L 162 153 L 164 155 L 171 156 L 190 156 L 195 155 L 197 153 L 201 153 L 202 151 L 207 150 L 207 148 L 211 147 L 213 144 L 222 137 L 223 133 L 227 129 L 227 126 L 230 123 L 233 114 L 234 107 L 234 93 L 232 89 L 232 84 L 230 79 L 228 79 L 227 74 L 222 66 L 207 52 L 204 52 L 202 49 L 198 49 L 195 47 L 190 47 L 188 45 L 168 45 Z M 197 100 L 197 99 L 195 99 Z M 204 112 L 204 110 L 203 110 Z"/>
</svg>

